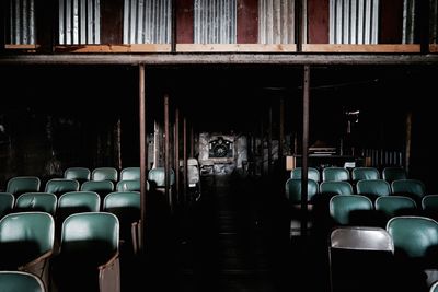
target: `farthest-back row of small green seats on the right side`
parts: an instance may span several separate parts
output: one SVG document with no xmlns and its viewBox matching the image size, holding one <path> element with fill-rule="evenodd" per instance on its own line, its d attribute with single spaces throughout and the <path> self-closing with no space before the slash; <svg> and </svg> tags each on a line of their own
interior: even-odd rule
<svg viewBox="0 0 438 292">
<path fill-rule="evenodd" d="M 290 178 L 301 178 L 301 167 L 290 172 Z M 380 175 L 376 167 L 355 167 L 351 171 L 345 167 L 325 167 L 320 171 L 314 167 L 308 167 L 308 178 L 320 182 L 358 182 L 362 179 L 384 179 L 389 183 L 399 179 L 406 179 L 406 171 L 402 167 L 385 167 Z"/>
</svg>

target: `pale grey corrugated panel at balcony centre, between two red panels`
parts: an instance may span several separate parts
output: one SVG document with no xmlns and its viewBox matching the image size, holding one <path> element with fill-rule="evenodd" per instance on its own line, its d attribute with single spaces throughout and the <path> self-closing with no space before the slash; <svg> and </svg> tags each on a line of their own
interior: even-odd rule
<svg viewBox="0 0 438 292">
<path fill-rule="evenodd" d="M 195 0 L 194 7 L 195 44 L 235 44 L 235 0 Z"/>
</svg>

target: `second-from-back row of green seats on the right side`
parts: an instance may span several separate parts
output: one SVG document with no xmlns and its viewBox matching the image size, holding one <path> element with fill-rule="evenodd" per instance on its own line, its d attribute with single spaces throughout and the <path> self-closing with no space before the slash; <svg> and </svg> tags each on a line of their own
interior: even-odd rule
<svg viewBox="0 0 438 292">
<path fill-rule="evenodd" d="M 286 197 L 293 203 L 301 201 L 301 179 L 289 178 L 285 186 Z M 397 179 L 389 184 L 384 179 L 358 180 L 355 187 L 348 182 L 308 180 L 308 200 L 312 201 L 318 195 L 365 195 L 371 199 L 382 196 L 407 196 L 419 201 L 426 195 L 426 187 L 418 179 Z"/>
</svg>

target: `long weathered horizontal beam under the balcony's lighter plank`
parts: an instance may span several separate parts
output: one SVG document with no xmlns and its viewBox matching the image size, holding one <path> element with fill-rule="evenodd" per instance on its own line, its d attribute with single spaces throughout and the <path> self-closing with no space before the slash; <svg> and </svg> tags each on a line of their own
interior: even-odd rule
<svg viewBox="0 0 438 292">
<path fill-rule="evenodd" d="M 438 65 L 438 55 L 419 54 L 50 54 L 0 55 L 0 65 Z"/>
</svg>

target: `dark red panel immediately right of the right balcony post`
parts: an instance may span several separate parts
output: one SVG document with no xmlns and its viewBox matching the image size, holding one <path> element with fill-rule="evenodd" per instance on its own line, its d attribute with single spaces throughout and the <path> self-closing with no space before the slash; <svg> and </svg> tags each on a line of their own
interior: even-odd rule
<svg viewBox="0 0 438 292">
<path fill-rule="evenodd" d="M 330 0 L 308 0 L 309 44 L 328 44 Z"/>
</svg>

